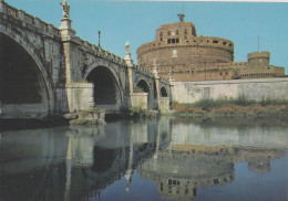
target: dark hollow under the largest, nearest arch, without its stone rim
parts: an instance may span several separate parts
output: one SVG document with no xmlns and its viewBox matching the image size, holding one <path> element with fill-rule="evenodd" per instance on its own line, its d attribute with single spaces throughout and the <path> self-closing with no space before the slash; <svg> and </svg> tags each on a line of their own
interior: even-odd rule
<svg viewBox="0 0 288 201">
<path fill-rule="evenodd" d="M 38 64 L 24 47 L 3 33 L 0 33 L 0 44 L 2 117 L 47 115 L 49 96 Z"/>
</svg>

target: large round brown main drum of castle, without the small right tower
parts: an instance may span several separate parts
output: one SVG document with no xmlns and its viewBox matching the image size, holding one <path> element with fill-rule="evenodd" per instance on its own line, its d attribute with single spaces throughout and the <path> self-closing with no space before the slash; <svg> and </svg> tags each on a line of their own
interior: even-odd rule
<svg viewBox="0 0 288 201">
<path fill-rule="evenodd" d="M 226 39 L 197 36 L 195 25 L 182 18 L 178 23 L 161 25 L 156 40 L 137 49 L 137 60 L 147 70 L 152 70 L 156 60 L 158 71 L 168 74 L 172 66 L 232 63 L 234 44 Z"/>
</svg>

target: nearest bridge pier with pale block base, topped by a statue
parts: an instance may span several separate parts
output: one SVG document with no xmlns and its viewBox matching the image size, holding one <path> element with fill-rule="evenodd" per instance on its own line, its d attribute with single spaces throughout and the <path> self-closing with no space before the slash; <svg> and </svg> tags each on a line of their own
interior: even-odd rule
<svg viewBox="0 0 288 201">
<path fill-rule="evenodd" d="M 65 2 L 64 2 L 65 3 Z M 63 7 L 63 6 L 62 6 Z M 75 72 L 75 51 L 79 45 L 75 31 L 71 27 L 72 21 L 69 13 L 61 20 L 61 40 L 63 42 L 65 60 L 65 91 L 68 98 L 69 114 L 66 118 L 75 118 L 72 124 L 94 124 L 104 123 L 104 112 L 95 109 L 94 105 L 94 84 L 86 81 L 74 82 Z M 74 115 L 73 115 L 74 114 Z"/>
</svg>

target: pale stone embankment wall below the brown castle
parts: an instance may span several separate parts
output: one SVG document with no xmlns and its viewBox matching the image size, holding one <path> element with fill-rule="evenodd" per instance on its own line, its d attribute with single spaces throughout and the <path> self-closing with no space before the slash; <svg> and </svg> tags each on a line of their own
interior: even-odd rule
<svg viewBox="0 0 288 201">
<path fill-rule="evenodd" d="M 288 99 L 288 78 L 258 78 L 236 81 L 175 82 L 173 100 L 195 103 L 204 98 Z"/>
</svg>

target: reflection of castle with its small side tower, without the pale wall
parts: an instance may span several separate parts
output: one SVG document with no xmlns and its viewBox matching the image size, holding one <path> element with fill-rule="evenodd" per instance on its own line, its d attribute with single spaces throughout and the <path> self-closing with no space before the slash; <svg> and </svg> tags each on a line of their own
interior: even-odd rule
<svg viewBox="0 0 288 201">
<path fill-rule="evenodd" d="M 138 167 L 138 172 L 157 183 L 164 199 L 192 200 L 197 194 L 197 187 L 232 182 L 236 161 L 248 161 L 253 171 L 269 172 L 270 159 L 282 156 L 285 150 L 281 149 L 177 145 L 146 160 Z"/>
</svg>

